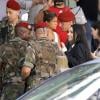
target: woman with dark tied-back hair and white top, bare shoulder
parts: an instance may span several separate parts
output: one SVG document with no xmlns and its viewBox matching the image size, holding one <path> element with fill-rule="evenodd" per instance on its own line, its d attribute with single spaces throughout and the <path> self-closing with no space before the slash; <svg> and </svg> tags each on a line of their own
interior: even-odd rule
<svg viewBox="0 0 100 100">
<path fill-rule="evenodd" d="M 59 36 L 56 32 L 54 32 L 58 24 L 57 15 L 53 12 L 45 11 L 43 21 L 47 24 L 46 29 L 49 40 L 58 44 L 58 47 L 60 48 L 61 46 Z"/>
</svg>

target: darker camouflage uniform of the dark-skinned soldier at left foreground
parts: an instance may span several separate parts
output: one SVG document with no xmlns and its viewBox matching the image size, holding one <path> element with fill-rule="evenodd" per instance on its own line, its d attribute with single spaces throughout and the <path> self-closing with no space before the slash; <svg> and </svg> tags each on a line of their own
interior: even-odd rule
<svg viewBox="0 0 100 100">
<path fill-rule="evenodd" d="M 27 42 L 20 38 L 2 44 L 2 90 L 0 100 L 15 100 L 24 93 L 25 82 L 21 77 L 21 65 L 24 60 Z"/>
</svg>

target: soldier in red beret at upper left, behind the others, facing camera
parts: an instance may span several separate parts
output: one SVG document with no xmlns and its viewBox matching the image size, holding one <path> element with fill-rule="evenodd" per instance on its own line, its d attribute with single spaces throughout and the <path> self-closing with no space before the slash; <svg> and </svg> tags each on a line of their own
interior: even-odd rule
<svg viewBox="0 0 100 100">
<path fill-rule="evenodd" d="M 20 5 L 15 0 L 8 0 L 6 5 L 7 17 L 0 22 L 0 43 L 8 42 L 13 39 L 16 34 L 14 32 L 15 25 L 19 22 Z"/>
</svg>

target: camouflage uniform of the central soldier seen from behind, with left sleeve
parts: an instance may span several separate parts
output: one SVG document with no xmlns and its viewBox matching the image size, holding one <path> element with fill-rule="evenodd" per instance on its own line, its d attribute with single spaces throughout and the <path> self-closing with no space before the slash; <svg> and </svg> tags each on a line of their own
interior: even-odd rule
<svg viewBox="0 0 100 100">
<path fill-rule="evenodd" d="M 46 38 L 38 39 L 29 44 L 24 62 L 25 66 L 32 69 L 31 75 L 27 79 L 27 90 L 37 87 L 46 79 L 59 73 L 57 66 L 59 49 L 55 45 Z M 33 74 L 34 70 L 35 74 Z"/>
</svg>

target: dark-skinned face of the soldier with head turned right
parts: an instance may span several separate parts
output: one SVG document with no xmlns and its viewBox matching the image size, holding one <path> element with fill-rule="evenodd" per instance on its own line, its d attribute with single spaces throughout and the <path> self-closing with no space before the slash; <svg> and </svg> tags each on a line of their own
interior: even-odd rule
<svg viewBox="0 0 100 100">
<path fill-rule="evenodd" d="M 30 38 L 30 31 L 24 27 L 19 28 L 17 34 L 23 40 L 28 40 Z"/>
</svg>

